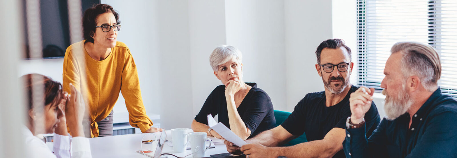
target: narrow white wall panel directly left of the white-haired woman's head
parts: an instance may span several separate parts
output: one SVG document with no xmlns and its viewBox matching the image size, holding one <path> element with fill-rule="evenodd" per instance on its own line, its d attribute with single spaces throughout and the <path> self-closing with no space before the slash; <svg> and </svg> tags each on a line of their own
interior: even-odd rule
<svg viewBox="0 0 457 158">
<path fill-rule="evenodd" d="M 191 54 L 192 118 L 202 108 L 208 95 L 222 84 L 213 74 L 209 55 L 226 44 L 223 0 L 189 1 L 189 35 Z M 189 123 L 189 121 L 185 122 Z"/>
</svg>

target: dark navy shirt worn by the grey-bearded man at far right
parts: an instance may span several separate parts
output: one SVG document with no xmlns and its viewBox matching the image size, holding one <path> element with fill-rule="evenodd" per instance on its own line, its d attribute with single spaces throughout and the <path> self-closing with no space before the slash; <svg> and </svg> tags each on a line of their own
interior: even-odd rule
<svg viewBox="0 0 457 158">
<path fill-rule="evenodd" d="M 367 139 L 365 127 L 346 129 L 348 158 L 456 158 L 457 101 L 438 88 L 413 115 L 405 113 L 381 124 Z"/>
</svg>

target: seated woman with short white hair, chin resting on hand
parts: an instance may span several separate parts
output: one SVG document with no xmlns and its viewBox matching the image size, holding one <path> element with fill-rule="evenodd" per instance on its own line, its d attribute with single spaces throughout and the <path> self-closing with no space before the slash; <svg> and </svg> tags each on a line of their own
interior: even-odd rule
<svg viewBox="0 0 457 158">
<path fill-rule="evenodd" d="M 192 121 L 194 132 L 222 138 L 208 126 L 207 115 L 218 115 L 219 122 L 243 140 L 275 127 L 276 120 L 270 97 L 256 83 L 243 82 L 243 56 L 233 46 L 219 46 L 209 57 L 214 75 L 223 85 L 208 96 Z"/>
</svg>

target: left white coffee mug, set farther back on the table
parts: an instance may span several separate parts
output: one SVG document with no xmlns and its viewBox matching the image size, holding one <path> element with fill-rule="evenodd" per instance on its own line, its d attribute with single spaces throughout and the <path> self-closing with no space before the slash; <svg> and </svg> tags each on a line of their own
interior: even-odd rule
<svg viewBox="0 0 457 158">
<path fill-rule="evenodd" d="M 187 143 L 189 143 L 189 134 L 187 134 L 187 128 L 175 128 L 171 129 L 171 138 L 173 139 L 173 151 L 175 153 L 185 152 Z"/>
</svg>

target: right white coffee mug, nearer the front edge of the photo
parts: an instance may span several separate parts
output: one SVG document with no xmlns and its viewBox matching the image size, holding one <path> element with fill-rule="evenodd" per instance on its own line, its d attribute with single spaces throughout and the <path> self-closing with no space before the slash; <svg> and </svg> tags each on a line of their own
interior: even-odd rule
<svg viewBox="0 0 457 158">
<path fill-rule="evenodd" d="M 209 142 L 208 147 L 206 147 L 206 141 L 211 141 L 206 137 L 206 132 L 189 133 L 189 137 L 191 138 L 191 151 L 194 153 L 193 158 L 205 157 L 205 152 L 211 145 Z"/>
</svg>

